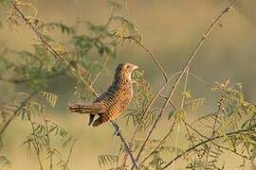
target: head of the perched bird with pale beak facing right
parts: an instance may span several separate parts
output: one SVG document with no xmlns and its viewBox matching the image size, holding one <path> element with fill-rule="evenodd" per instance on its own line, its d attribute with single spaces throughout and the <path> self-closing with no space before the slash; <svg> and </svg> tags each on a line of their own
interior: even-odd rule
<svg viewBox="0 0 256 170">
<path fill-rule="evenodd" d="M 132 73 L 137 69 L 137 65 L 131 63 L 120 63 L 116 69 L 115 76 L 126 76 L 131 78 Z"/>
</svg>

